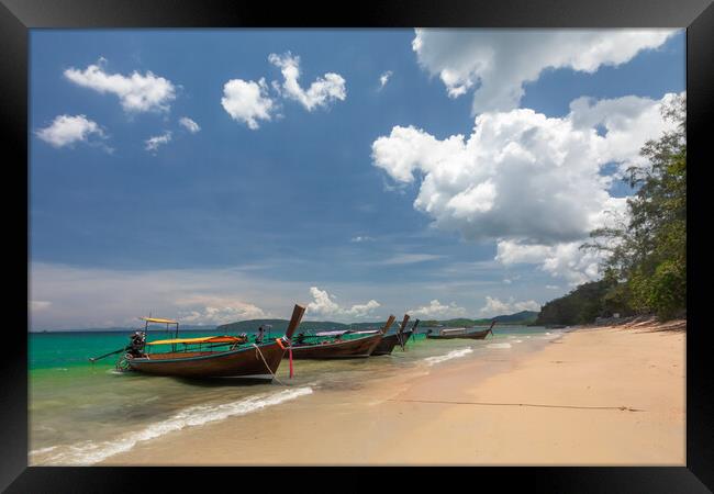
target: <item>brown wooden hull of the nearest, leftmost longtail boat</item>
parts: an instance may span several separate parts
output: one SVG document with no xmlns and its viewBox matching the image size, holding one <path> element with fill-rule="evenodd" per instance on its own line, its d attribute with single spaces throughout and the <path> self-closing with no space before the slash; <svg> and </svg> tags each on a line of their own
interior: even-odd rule
<svg viewBox="0 0 714 494">
<path fill-rule="evenodd" d="M 271 380 L 285 350 L 277 343 L 258 348 L 259 352 L 256 347 L 248 347 L 228 351 L 155 353 L 130 359 L 129 364 L 135 371 L 154 375 Z"/>
</svg>

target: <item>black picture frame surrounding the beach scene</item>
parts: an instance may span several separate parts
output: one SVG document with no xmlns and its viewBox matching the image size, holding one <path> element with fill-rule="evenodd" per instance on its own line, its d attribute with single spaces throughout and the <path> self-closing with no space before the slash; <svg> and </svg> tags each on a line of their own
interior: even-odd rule
<svg viewBox="0 0 714 494">
<path fill-rule="evenodd" d="M 707 259 L 702 250 L 707 240 L 702 223 L 704 203 L 703 166 L 707 164 L 705 127 L 714 115 L 714 5 L 709 0 L 551 0 L 465 1 L 410 0 L 373 1 L 350 4 L 311 2 L 235 2 L 228 0 L 0 0 L 0 125 L 4 144 L 5 190 L 19 190 L 29 209 L 27 192 L 27 109 L 29 109 L 29 30 L 30 29 L 111 29 L 111 27 L 687 27 L 688 147 L 690 180 L 688 190 L 688 333 L 687 333 L 687 465 L 681 468 L 478 468 L 459 469 L 471 486 L 490 489 L 521 485 L 542 492 L 710 492 L 714 486 L 713 438 L 714 406 L 707 359 L 711 352 L 709 328 L 703 325 L 706 296 L 704 288 Z M 8 150 L 11 153 L 8 154 Z M 10 157 L 9 157 L 10 156 Z M 23 167 L 24 165 L 24 167 Z M 10 171 L 11 179 L 8 178 Z M 16 175 L 15 175 L 16 173 Z M 19 183 L 15 183 L 15 177 Z M 23 194 L 23 187 L 24 194 Z M 30 259 L 29 214 L 16 213 L 16 201 L 3 194 L 5 223 L 12 223 L 5 244 L 24 248 Z M 705 217 L 705 216 L 704 216 Z M 692 223 L 694 222 L 694 223 Z M 24 223 L 24 226 L 23 226 Z M 22 233 L 22 228 L 24 234 Z M 25 243 L 18 239 L 25 239 Z M 8 257 L 9 258 L 9 257 Z M 21 263 L 16 265 L 22 270 Z M 29 269 L 29 268 L 27 268 Z M 7 271 L 5 271 L 7 272 Z M 23 284 L 29 290 L 29 271 L 18 273 L 20 283 L 5 283 L 13 296 Z M 14 280 L 13 280 L 14 281 Z M 25 284 L 27 283 L 27 284 Z M 698 288 L 693 293 L 692 287 Z M 29 293 L 29 291 L 26 292 Z M 701 302 L 700 302 L 701 301 Z M 12 304 L 20 313 L 22 302 Z M 237 481 L 233 469 L 190 468 L 183 472 L 156 468 L 56 468 L 27 467 L 27 338 L 20 330 L 29 314 L 18 317 L 2 333 L 7 345 L 0 359 L 2 386 L 2 448 L 0 489 L 7 492 L 126 492 L 144 490 L 158 482 L 159 492 L 182 491 L 191 483 L 217 486 Z M 14 322 L 14 319 L 13 319 Z M 280 487 L 288 487 L 295 469 L 282 468 Z M 336 469 L 349 475 L 362 475 L 354 469 Z M 261 469 L 263 471 L 263 469 Z M 334 469 L 333 469 L 334 471 Z M 301 470 L 302 472 L 302 470 Z M 393 480 L 435 479 L 454 472 L 425 472 L 410 469 Z M 436 474 L 436 475 L 434 475 Z M 300 475 L 298 475 L 299 478 Z M 152 481 L 153 480 L 153 481 Z M 464 482 L 467 479 L 462 479 Z M 477 483 L 475 483 L 477 482 Z M 449 482 L 450 484 L 450 482 Z M 237 487 L 237 483 L 234 483 Z M 308 485 L 306 483 L 304 485 Z M 450 484 L 455 485 L 456 484 Z M 498 487 L 495 487 L 498 485 Z M 355 485 L 356 486 L 356 485 Z M 475 487 L 476 489 L 476 487 Z"/>
</svg>

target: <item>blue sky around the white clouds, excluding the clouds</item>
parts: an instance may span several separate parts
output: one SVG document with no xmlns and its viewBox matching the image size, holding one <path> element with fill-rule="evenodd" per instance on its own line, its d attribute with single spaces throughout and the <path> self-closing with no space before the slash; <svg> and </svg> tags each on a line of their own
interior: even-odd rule
<svg viewBox="0 0 714 494">
<path fill-rule="evenodd" d="M 544 269 L 543 259 L 495 259 L 499 242 L 523 247 L 533 235 L 500 233 L 494 220 L 491 233 L 473 234 L 479 218 L 416 206 L 428 192 L 424 180 L 437 173 L 432 165 L 412 166 L 410 182 L 373 155 L 376 141 L 397 127 L 438 142 L 468 139 L 482 113 L 476 101 L 487 79 L 450 97 L 447 72 L 426 52 L 438 50 L 439 41 L 427 40 L 420 52 L 414 40 L 414 30 L 33 30 L 33 326 L 124 325 L 148 311 L 215 324 L 287 316 L 294 302 L 311 303 L 314 318 L 338 321 L 404 311 L 476 317 L 570 290 L 577 278 Z M 603 55 L 595 70 L 546 64 L 522 85 L 516 105 L 567 119 L 581 97 L 593 104 L 629 96 L 659 101 L 683 91 L 684 33 L 648 43 L 616 65 L 606 58 L 615 55 Z M 303 90 L 336 74 L 344 98 L 309 110 L 285 86 L 279 91 L 285 77 L 268 57 L 287 53 L 299 57 Z M 170 81 L 175 98 L 163 109 L 127 110 L 111 91 L 66 75 L 91 65 L 126 78 L 150 71 Z M 224 85 L 261 78 L 274 111 L 249 128 L 221 104 Z M 41 131 L 58 115 L 83 115 L 100 131 L 53 145 Z M 200 131 L 189 132 L 181 117 Z M 166 133 L 169 142 L 146 148 Z M 612 197 L 627 193 L 610 189 Z M 537 242 L 555 248 L 561 239 Z M 495 301 L 490 308 L 487 297 Z"/>
</svg>

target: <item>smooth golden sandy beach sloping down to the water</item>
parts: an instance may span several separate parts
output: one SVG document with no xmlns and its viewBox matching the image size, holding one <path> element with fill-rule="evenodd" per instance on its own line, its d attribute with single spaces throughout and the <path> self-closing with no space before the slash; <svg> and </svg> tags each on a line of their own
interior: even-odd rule
<svg viewBox="0 0 714 494">
<path fill-rule="evenodd" d="M 684 465 L 681 326 L 580 328 L 535 352 L 323 389 L 102 464 Z"/>
</svg>

